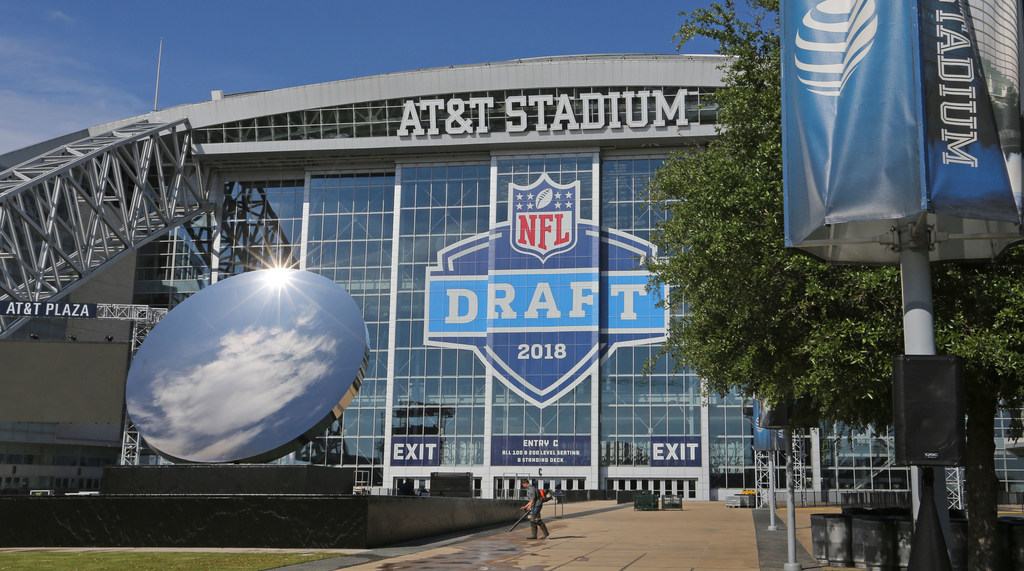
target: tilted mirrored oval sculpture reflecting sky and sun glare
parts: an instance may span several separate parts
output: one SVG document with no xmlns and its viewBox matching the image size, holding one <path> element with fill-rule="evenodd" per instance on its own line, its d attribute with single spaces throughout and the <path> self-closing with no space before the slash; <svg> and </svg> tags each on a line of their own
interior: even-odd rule
<svg viewBox="0 0 1024 571">
<path fill-rule="evenodd" d="M 157 323 L 131 363 L 125 402 L 168 459 L 266 462 L 341 416 L 369 356 L 361 312 L 343 288 L 306 271 L 247 272 Z"/>
</svg>

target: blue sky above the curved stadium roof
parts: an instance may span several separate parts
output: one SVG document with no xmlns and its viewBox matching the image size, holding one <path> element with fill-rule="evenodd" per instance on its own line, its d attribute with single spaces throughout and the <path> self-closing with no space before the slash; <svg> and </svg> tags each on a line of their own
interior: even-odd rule
<svg viewBox="0 0 1024 571">
<path fill-rule="evenodd" d="M 0 153 L 153 109 L 423 68 L 676 53 L 708 0 L 0 0 Z M 701 40 L 682 53 L 712 53 Z"/>
</svg>

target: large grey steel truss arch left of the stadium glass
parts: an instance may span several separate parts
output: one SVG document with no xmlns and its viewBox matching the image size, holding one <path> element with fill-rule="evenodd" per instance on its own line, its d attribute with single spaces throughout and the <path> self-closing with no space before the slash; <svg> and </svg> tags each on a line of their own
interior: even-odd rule
<svg viewBox="0 0 1024 571">
<path fill-rule="evenodd" d="M 0 300 L 59 298 L 118 255 L 212 210 L 186 120 L 62 145 L 0 173 Z M 0 339 L 25 321 L 0 317 Z"/>
</svg>

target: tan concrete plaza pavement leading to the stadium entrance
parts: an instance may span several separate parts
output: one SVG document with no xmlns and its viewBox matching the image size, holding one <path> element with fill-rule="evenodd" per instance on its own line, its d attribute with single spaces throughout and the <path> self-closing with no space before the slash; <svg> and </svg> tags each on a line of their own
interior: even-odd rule
<svg viewBox="0 0 1024 571">
<path fill-rule="evenodd" d="M 682 511 L 638 512 L 632 504 L 588 501 L 545 506 L 551 536 L 527 539 L 520 524 L 471 534 L 380 550 L 348 551 L 347 556 L 292 566 L 292 571 L 430 571 L 487 569 L 550 571 L 568 569 L 763 571 L 787 561 L 785 511 L 777 512 L 777 531 L 768 531 L 764 510 L 727 508 L 724 502 L 684 502 Z M 564 508 L 564 512 L 563 512 Z M 827 569 L 814 561 L 810 514 L 797 510 L 798 562 L 804 569 Z"/>
</svg>

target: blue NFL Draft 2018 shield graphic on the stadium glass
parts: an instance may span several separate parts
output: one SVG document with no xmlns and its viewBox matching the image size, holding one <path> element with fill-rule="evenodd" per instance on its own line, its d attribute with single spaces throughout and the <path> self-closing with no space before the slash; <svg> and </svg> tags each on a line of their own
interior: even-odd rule
<svg viewBox="0 0 1024 571">
<path fill-rule="evenodd" d="M 579 181 L 510 184 L 507 208 L 508 222 L 427 268 L 425 345 L 473 350 L 544 407 L 616 347 L 665 340 L 665 292 L 648 292 L 638 269 L 655 248 L 581 218 Z"/>
</svg>

